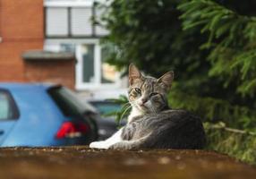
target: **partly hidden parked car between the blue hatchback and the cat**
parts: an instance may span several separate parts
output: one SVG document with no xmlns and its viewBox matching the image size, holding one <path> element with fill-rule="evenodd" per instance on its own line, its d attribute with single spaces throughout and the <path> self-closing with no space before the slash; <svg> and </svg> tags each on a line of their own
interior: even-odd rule
<svg viewBox="0 0 256 179">
<path fill-rule="evenodd" d="M 90 100 L 90 104 L 98 109 L 101 119 L 98 120 L 99 140 L 105 140 L 113 135 L 120 126 L 126 124 L 123 119 L 120 124 L 115 120 L 115 113 L 121 110 L 122 105 L 110 100 Z M 112 115 L 110 115 L 112 114 Z"/>
</svg>

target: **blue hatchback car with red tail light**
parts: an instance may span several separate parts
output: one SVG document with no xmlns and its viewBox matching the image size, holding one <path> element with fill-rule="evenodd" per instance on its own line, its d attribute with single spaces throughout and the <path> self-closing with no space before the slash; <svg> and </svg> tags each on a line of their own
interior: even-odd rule
<svg viewBox="0 0 256 179">
<path fill-rule="evenodd" d="M 84 145 L 98 139 L 97 113 L 63 86 L 0 83 L 0 146 Z"/>
</svg>

